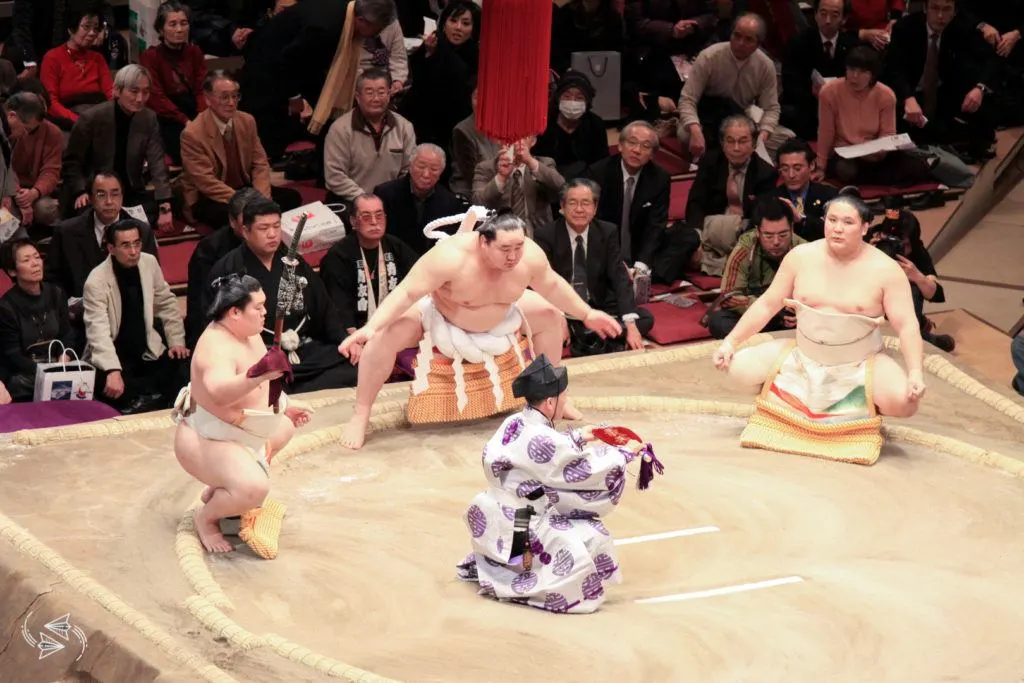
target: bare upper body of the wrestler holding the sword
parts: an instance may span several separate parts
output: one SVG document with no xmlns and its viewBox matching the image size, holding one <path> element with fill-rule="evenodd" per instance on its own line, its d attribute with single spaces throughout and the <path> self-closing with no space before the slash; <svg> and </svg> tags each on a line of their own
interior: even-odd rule
<svg viewBox="0 0 1024 683">
<path fill-rule="evenodd" d="M 220 373 L 229 372 L 232 375 L 241 375 L 264 355 L 266 355 L 266 346 L 259 335 L 250 337 L 248 341 L 241 341 L 224 328 L 216 324 L 210 325 L 199 338 L 196 352 L 193 353 L 193 400 L 229 424 L 240 420 L 243 410 L 247 408 L 265 409 L 270 396 L 267 382 L 263 382 L 240 400 L 228 405 L 214 401 L 207 384 L 207 378 L 215 370 Z"/>
</svg>

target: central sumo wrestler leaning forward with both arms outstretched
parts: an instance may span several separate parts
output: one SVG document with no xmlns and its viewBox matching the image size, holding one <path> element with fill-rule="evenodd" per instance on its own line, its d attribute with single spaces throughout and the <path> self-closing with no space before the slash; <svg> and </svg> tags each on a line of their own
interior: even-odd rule
<svg viewBox="0 0 1024 683">
<path fill-rule="evenodd" d="M 397 352 L 423 338 L 424 315 L 436 311 L 451 327 L 487 333 L 516 308 L 529 327 L 535 354 L 549 358 L 561 357 L 562 312 L 601 337 L 623 332 L 613 317 L 591 308 L 551 269 L 544 251 L 526 239 L 521 218 L 499 214 L 472 231 L 460 229 L 424 254 L 370 321 L 341 343 L 339 350 L 346 357 L 361 348 L 355 413 L 342 433 L 342 444 L 362 445 L 374 399 L 391 375 Z M 566 405 L 562 417 L 578 420 L 581 415 Z"/>
</svg>

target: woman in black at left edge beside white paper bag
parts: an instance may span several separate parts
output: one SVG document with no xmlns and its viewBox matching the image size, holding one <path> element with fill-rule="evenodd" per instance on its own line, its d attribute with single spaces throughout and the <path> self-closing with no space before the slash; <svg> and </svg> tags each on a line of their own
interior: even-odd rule
<svg viewBox="0 0 1024 683">
<path fill-rule="evenodd" d="M 59 287 L 43 282 L 43 258 L 29 240 L 7 242 L 0 260 L 14 283 L 0 298 L 0 362 L 11 370 L 7 391 L 12 398 L 32 400 L 36 366 L 50 360 L 50 342 L 59 341 L 66 348 L 76 349 L 68 298 Z M 54 345 L 53 349 L 57 352 L 59 347 Z"/>
</svg>

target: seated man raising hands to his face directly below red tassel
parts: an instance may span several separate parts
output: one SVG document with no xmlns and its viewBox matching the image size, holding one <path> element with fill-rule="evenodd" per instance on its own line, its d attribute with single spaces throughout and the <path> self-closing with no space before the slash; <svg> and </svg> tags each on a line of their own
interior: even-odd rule
<svg viewBox="0 0 1024 683">
<path fill-rule="evenodd" d="M 526 237 L 551 222 L 551 207 L 558 201 L 564 178 L 555 160 L 538 159 L 531 150 L 537 137 L 519 140 L 498 157 L 482 161 L 473 176 L 473 203 L 488 209 L 510 209 L 526 221 Z"/>
</svg>

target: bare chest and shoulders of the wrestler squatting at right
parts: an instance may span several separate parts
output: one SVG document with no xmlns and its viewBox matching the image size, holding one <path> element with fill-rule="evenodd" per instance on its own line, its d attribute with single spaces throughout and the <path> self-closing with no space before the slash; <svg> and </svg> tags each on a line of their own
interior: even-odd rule
<svg viewBox="0 0 1024 683">
<path fill-rule="evenodd" d="M 825 312 L 882 315 L 894 269 L 902 275 L 895 261 L 866 244 L 846 261 L 831 254 L 825 240 L 801 245 L 791 255 L 797 261 L 793 298 Z"/>
</svg>

